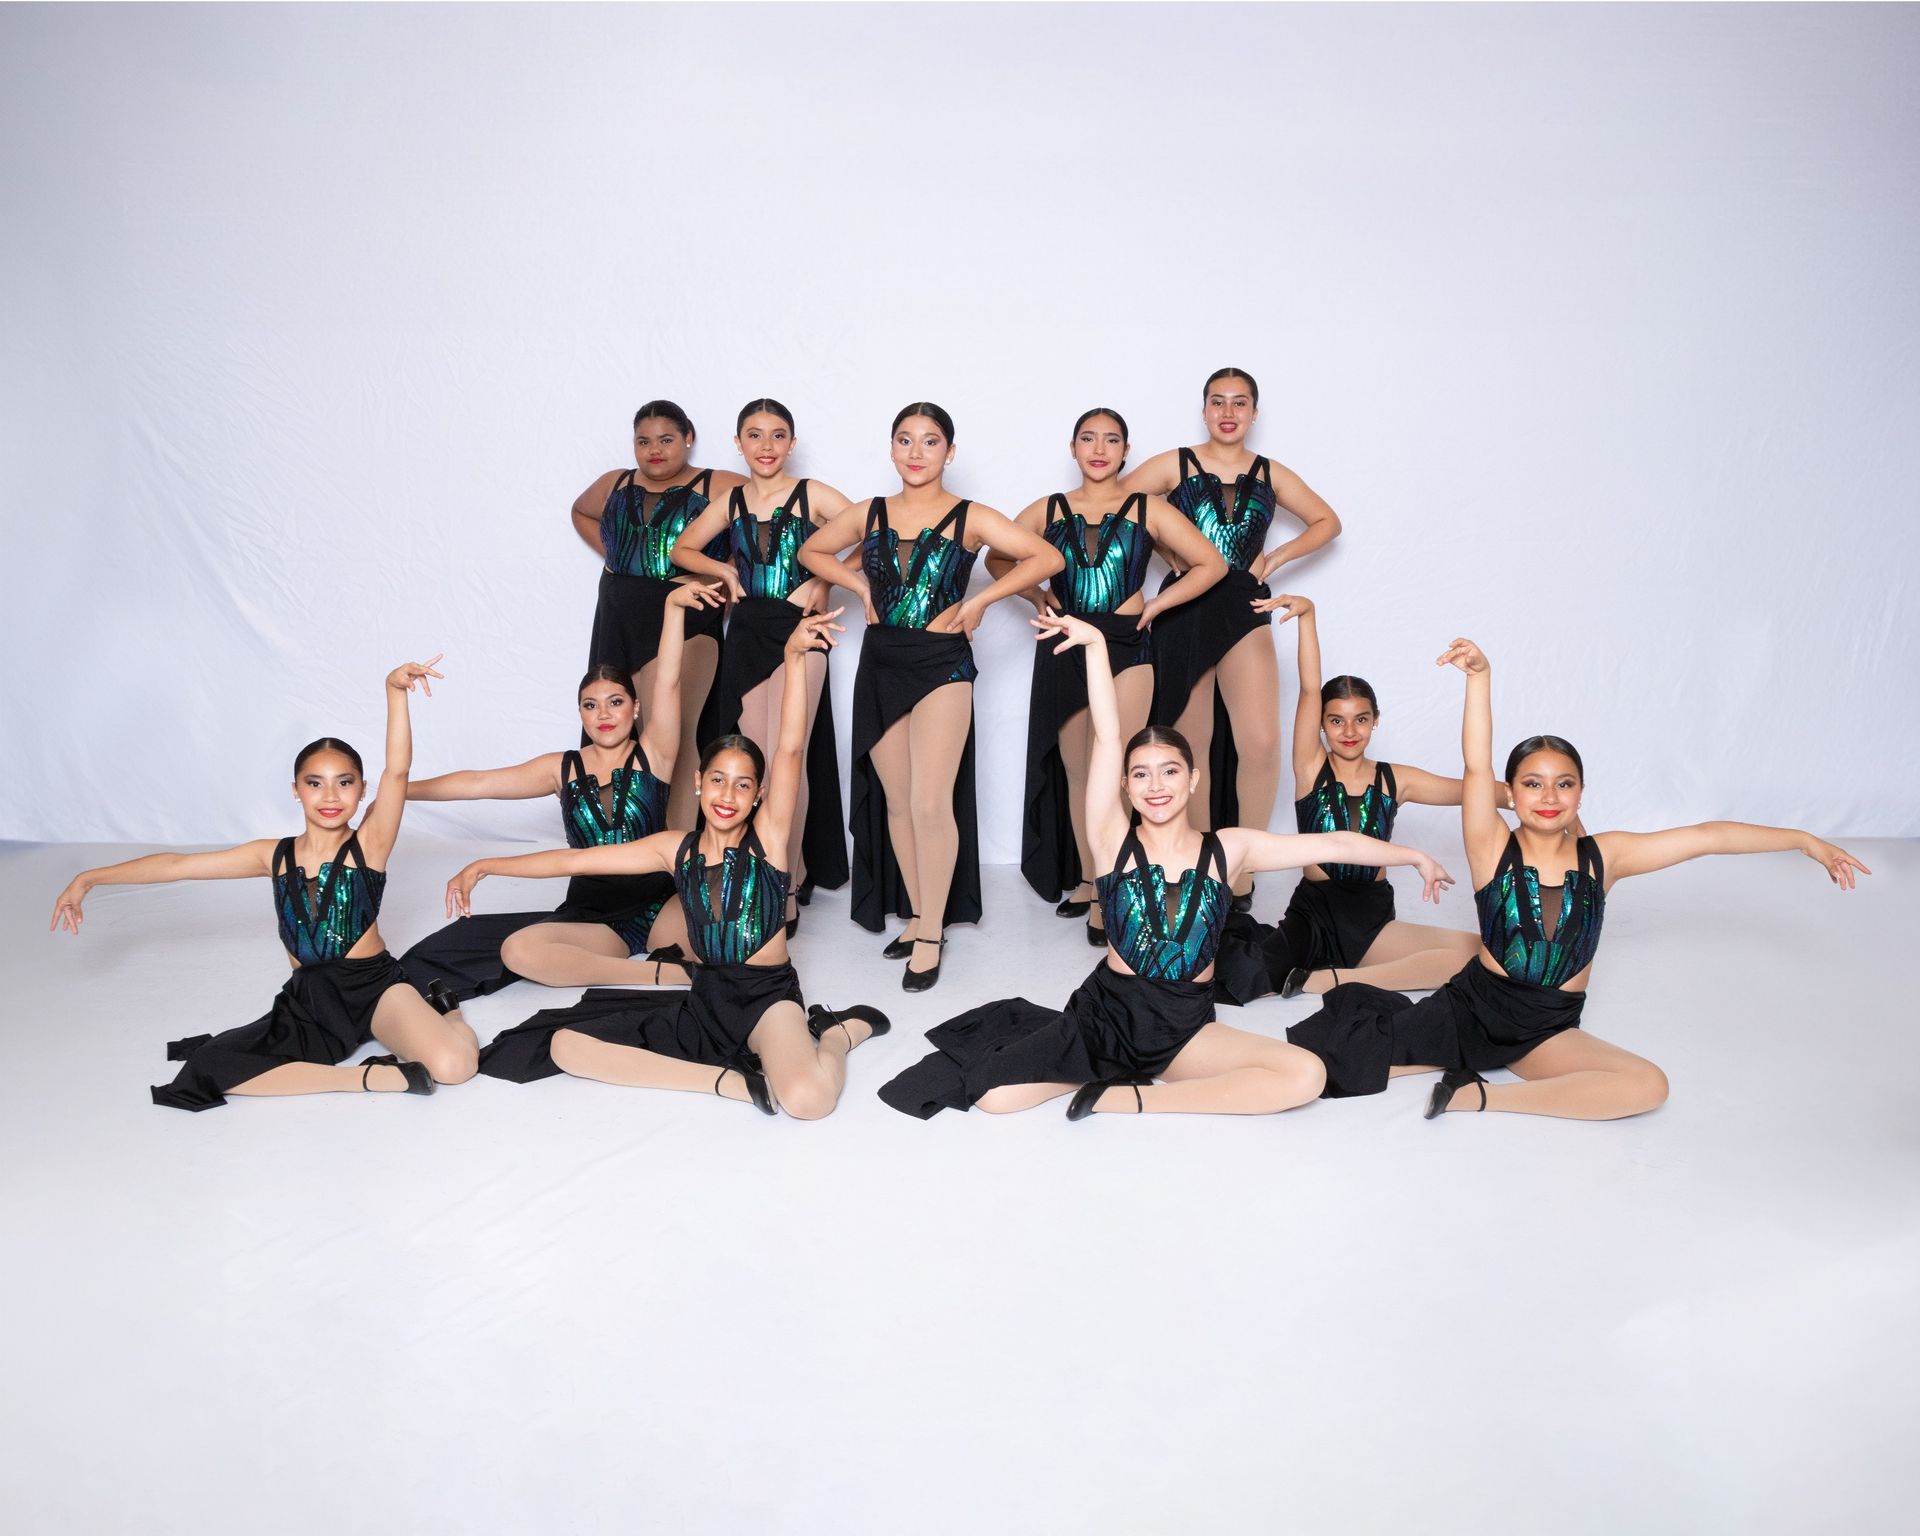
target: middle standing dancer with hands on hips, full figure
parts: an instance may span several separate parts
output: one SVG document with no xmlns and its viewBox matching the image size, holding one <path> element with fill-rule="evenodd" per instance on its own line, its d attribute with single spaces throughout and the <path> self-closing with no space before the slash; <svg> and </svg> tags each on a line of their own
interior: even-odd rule
<svg viewBox="0 0 1920 1536">
<path fill-rule="evenodd" d="M 801 564 L 866 605 L 852 684 L 852 920 L 874 933 L 887 912 L 908 920 L 881 952 L 906 960 L 910 993 L 939 979 L 945 925 L 979 922 L 973 630 L 1002 597 L 1060 570 L 1039 534 L 952 499 L 952 417 L 927 401 L 904 407 L 893 419 L 899 495 L 854 503 L 801 547 Z M 839 555 L 856 543 L 851 570 Z M 981 547 L 1016 564 L 968 597 Z"/>
</svg>

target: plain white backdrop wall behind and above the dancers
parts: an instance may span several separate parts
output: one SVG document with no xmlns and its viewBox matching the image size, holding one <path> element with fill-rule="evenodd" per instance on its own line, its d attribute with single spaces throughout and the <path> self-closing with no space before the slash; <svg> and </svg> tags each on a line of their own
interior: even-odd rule
<svg viewBox="0 0 1920 1536">
<path fill-rule="evenodd" d="M 290 828 L 434 651 L 419 772 L 568 743 L 649 396 L 851 493 L 933 397 L 1012 511 L 1221 363 L 1386 755 L 1457 762 L 1469 634 L 1596 826 L 1920 833 L 1916 67 L 1910 8 L 6 8 L 0 835 Z M 1016 605 L 979 657 L 1010 860 Z"/>
</svg>

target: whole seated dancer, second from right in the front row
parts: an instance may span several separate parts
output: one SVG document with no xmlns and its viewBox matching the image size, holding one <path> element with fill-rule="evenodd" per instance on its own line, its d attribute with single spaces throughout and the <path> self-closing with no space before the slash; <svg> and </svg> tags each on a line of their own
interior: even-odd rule
<svg viewBox="0 0 1920 1536">
<path fill-rule="evenodd" d="M 1446 870 L 1413 849 L 1352 831 L 1308 837 L 1223 828 L 1198 831 L 1187 810 L 1192 755 L 1179 732 L 1148 726 L 1125 753 L 1106 639 L 1085 620 L 1046 614 L 1033 628 L 1087 647 L 1092 764 L 1087 839 L 1104 870 L 1106 956 L 1066 1010 L 1025 998 L 989 1002 L 927 1033 L 937 1046 L 879 1091 L 895 1110 L 1031 1110 L 1073 1094 L 1068 1119 L 1092 1112 L 1275 1114 L 1319 1094 L 1311 1054 L 1213 1021 L 1213 947 L 1229 881 L 1248 870 L 1306 864 L 1413 864 L 1432 897 Z M 1158 1079 L 1158 1081 L 1156 1081 Z"/>
</svg>

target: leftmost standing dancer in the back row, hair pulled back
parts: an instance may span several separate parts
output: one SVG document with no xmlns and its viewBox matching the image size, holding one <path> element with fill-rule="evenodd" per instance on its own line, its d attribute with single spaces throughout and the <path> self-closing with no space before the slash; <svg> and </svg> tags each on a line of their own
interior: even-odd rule
<svg viewBox="0 0 1920 1536">
<path fill-rule="evenodd" d="M 588 666 L 626 668 L 634 691 L 653 697 L 666 599 L 682 572 L 672 547 L 682 530 L 743 484 L 732 470 L 695 468 L 693 420 L 670 399 L 649 399 L 634 413 L 636 468 L 611 468 L 574 499 L 574 530 L 605 559 Z M 720 553 L 722 547 L 708 549 Z M 693 756 L 707 691 L 720 666 L 720 609 L 703 609 L 687 624 L 680 668 L 680 743 L 674 751 L 670 826 L 693 818 Z M 582 743 L 584 745 L 584 743 Z"/>
</svg>

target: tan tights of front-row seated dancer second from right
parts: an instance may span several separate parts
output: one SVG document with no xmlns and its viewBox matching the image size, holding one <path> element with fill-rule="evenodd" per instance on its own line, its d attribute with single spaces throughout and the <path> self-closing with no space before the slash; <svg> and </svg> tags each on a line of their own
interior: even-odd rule
<svg viewBox="0 0 1920 1536">
<path fill-rule="evenodd" d="M 1327 1069 L 1319 1056 L 1286 1041 L 1252 1035 L 1225 1023 L 1202 1025 L 1175 1056 L 1160 1083 L 1108 1089 L 1096 1114 L 1150 1116 L 1271 1116 L 1319 1098 Z M 1075 1092 L 1079 1083 L 1008 1083 L 979 1096 L 987 1114 L 1014 1114 Z"/>
</svg>

